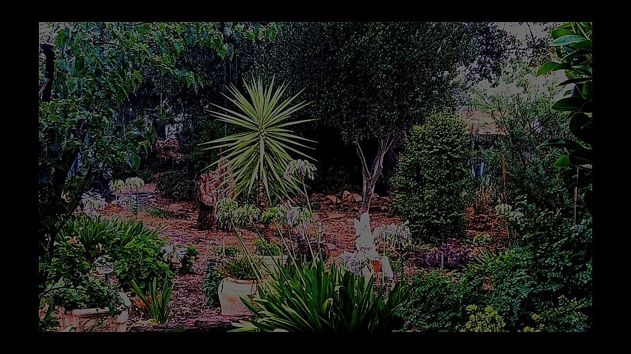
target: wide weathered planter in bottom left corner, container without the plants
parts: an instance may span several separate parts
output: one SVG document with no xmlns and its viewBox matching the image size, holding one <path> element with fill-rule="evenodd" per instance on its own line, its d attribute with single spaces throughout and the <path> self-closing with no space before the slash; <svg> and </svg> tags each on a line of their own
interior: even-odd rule
<svg viewBox="0 0 631 354">
<path fill-rule="evenodd" d="M 93 328 L 94 326 L 103 326 L 103 331 L 109 332 L 125 332 L 127 331 L 127 316 L 129 305 L 131 302 L 124 292 L 119 293 L 126 309 L 117 316 L 110 314 L 109 308 L 105 309 L 76 309 L 61 311 L 62 328 L 73 327 L 73 331 L 82 332 Z"/>
</svg>

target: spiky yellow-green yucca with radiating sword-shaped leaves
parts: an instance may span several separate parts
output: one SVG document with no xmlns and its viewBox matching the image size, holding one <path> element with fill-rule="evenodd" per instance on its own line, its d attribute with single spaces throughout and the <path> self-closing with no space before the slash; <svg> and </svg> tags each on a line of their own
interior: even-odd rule
<svg viewBox="0 0 631 354">
<path fill-rule="evenodd" d="M 286 127 L 314 119 L 288 122 L 293 113 L 309 104 L 302 101 L 297 105 L 289 106 L 302 90 L 292 98 L 279 103 L 287 88 L 286 84 L 281 84 L 275 91 L 273 90 L 274 79 L 266 87 L 263 86 L 261 77 L 256 80 L 252 77 L 251 83 L 247 83 L 244 80 L 244 84 L 249 94 L 249 100 L 233 85 L 228 89 L 233 98 L 224 95 L 237 106 L 238 111 L 214 105 L 225 112 L 210 112 L 213 117 L 223 122 L 245 128 L 245 132 L 203 144 L 217 144 L 207 149 L 227 148 L 221 152 L 221 159 L 228 159 L 232 165 L 232 180 L 235 186 L 235 193 L 238 195 L 245 190 L 250 192 L 256 180 L 259 191 L 259 203 L 261 203 L 262 207 L 265 207 L 266 201 L 263 189 L 266 191 L 268 198 L 271 195 L 289 197 L 290 191 L 299 190 L 295 181 L 283 178 L 287 164 L 292 161 L 288 151 L 309 157 L 295 149 L 295 147 L 312 149 L 312 147 L 301 144 L 298 140 L 314 141 L 294 135 L 292 130 L 288 130 Z M 206 168 L 217 163 L 219 161 Z"/>
</svg>

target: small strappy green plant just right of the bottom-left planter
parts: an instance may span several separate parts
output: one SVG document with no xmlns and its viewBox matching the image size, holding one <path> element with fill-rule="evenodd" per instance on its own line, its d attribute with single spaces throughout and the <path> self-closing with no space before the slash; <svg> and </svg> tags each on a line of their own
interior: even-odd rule
<svg viewBox="0 0 631 354">
<path fill-rule="evenodd" d="M 142 312 L 145 319 L 153 320 L 155 323 L 167 323 L 170 317 L 170 305 L 171 294 L 173 292 L 174 283 L 165 280 L 162 285 L 162 292 L 158 293 L 158 287 L 156 285 L 156 279 L 153 278 L 149 286 L 149 292 L 145 294 L 138 284 L 131 281 L 134 294 L 136 294 L 143 305 L 137 306 Z"/>
</svg>

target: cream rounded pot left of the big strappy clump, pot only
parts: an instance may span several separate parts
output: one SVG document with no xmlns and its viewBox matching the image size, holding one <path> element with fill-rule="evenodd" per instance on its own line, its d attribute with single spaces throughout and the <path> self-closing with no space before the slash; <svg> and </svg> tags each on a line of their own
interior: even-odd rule
<svg viewBox="0 0 631 354">
<path fill-rule="evenodd" d="M 217 292 L 221 304 L 222 315 L 252 314 L 240 298 L 249 300 L 249 295 L 255 295 L 258 291 L 256 280 L 239 280 L 235 278 L 223 278 Z"/>
</svg>

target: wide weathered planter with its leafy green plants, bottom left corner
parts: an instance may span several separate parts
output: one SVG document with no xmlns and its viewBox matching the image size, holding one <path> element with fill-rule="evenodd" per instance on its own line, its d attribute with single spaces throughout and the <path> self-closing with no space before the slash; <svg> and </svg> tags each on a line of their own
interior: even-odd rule
<svg viewBox="0 0 631 354">
<path fill-rule="evenodd" d="M 76 287 L 66 287 L 62 282 L 57 287 L 51 298 L 61 305 L 62 328 L 81 332 L 100 326 L 103 331 L 127 331 L 131 302 L 124 292 L 94 278 L 86 278 Z"/>
</svg>

